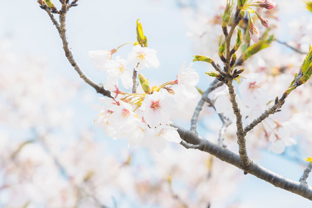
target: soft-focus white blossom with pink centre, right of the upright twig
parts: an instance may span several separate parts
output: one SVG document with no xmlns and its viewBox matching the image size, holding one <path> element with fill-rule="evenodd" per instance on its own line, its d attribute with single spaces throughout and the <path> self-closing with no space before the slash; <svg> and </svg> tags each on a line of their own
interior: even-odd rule
<svg viewBox="0 0 312 208">
<path fill-rule="evenodd" d="M 251 110 L 255 109 L 256 105 L 265 109 L 270 101 L 271 96 L 268 96 L 266 90 L 260 87 L 261 81 L 259 74 L 251 74 L 238 88 L 243 103 Z"/>
</svg>

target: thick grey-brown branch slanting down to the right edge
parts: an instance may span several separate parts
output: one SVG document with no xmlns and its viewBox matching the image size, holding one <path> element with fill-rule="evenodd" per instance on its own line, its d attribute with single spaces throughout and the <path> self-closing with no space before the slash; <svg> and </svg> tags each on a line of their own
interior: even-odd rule
<svg viewBox="0 0 312 208">
<path fill-rule="evenodd" d="M 285 178 L 275 172 L 272 172 L 265 167 L 258 165 L 256 162 L 251 161 L 250 166 L 248 169 L 245 169 L 241 166 L 240 156 L 231 152 L 227 148 L 220 147 L 208 140 L 202 138 L 197 133 L 188 131 L 172 122 L 169 122 L 171 126 L 178 128 L 178 133 L 180 137 L 184 141 L 193 142 L 192 144 L 188 144 L 186 142 L 181 142 L 183 146 L 187 148 L 194 148 L 199 149 L 204 152 L 208 152 L 213 156 L 219 158 L 220 160 L 230 163 L 244 172 L 254 175 L 266 182 L 271 183 L 272 185 L 284 189 L 286 191 L 290 191 L 302 197 L 305 197 L 312 201 L 312 187 L 308 186 L 307 184 L 303 184 L 299 181 L 293 181 L 289 178 Z M 194 145 L 195 144 L 195 145 Z"/>
</svg>

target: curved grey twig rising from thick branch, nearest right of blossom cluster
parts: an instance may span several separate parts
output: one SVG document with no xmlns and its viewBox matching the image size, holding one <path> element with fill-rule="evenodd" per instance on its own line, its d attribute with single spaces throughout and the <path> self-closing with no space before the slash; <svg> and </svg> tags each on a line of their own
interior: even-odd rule
<svg viewBox="0 0 312 208">
<path fill-rule="evenodd" d="M 196 123 L 198 121 L 198 116 L 199 116 L 200 111 L 202 110 L 202 106 L 204 105 L 208 94 L 211 93 L 214 89 L 216 89 L 222 85 L 223 85 L 222 82 L 215 79 L 209 85 L 208 89 L 202 94 L 202 98 L 199 100 L 199 102 L 195 108 L 194 114 L 192 116 L 192 119 L 191 119 L 191 131 L 196 132 Z"/>
</svg>

